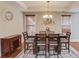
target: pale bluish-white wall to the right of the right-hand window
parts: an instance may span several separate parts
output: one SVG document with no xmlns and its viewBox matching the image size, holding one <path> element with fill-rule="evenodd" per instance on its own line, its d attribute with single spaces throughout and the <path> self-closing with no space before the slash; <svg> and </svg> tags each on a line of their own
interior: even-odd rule
<svg viewBox="0 0 79 59">
<path fill-rule="evenodd" d="M 71 20 L 71 39 L 72 41 L 79 42 L 79 13 L 72 15 Z"/>
</svg>

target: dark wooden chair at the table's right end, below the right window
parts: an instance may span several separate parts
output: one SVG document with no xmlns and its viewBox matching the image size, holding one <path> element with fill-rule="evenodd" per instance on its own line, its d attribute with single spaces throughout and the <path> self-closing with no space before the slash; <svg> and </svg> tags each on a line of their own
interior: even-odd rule
<svg viewBox="0 0 79 59">
<path fill-rule="evenodd" d="M 70 52 L 70 35 L 71 33 L 70 32 L 66 32 L 66 38 L 61 38 L 61 50 L 64 50 L 63 47 L 65 49 L 68 49 L 68 52 Z"/>
</svg>

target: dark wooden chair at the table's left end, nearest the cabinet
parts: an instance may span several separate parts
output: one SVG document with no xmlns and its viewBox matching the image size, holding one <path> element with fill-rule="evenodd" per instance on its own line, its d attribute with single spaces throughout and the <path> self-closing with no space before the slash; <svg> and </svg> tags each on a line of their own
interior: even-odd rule
<svg viewBox="0 0 79 59">
<path fill-rule="evenodd" d="M 24 37 L 24 53 L 25 53 L 26 50 L 33 48 L 33 39 L 28 38 L 27 32 L 23 32 L 23 37 Z"/>
</svg>

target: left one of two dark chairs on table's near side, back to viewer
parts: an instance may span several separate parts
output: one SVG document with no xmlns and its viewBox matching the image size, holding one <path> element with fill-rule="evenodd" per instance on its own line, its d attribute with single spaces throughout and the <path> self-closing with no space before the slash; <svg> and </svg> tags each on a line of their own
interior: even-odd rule
<svg viewBox="0 0 79 59">
<path fill-rule="evenodd" d="M 45 51 L 46 57 L 46 34 L 36 34 L 36 57 L 39 55 L 40 51 Z"/>
</svg>

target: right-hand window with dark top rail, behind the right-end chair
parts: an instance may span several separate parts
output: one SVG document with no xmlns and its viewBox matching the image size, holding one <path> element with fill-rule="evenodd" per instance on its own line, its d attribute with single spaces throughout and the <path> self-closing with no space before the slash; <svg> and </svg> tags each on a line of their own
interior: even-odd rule
<svg viewBox="0 0 79 59">
<path fill-rule="evenodd" d="M 62 15 L 62 33 L 71 31 L 71 15 Z"/>
</svg>

